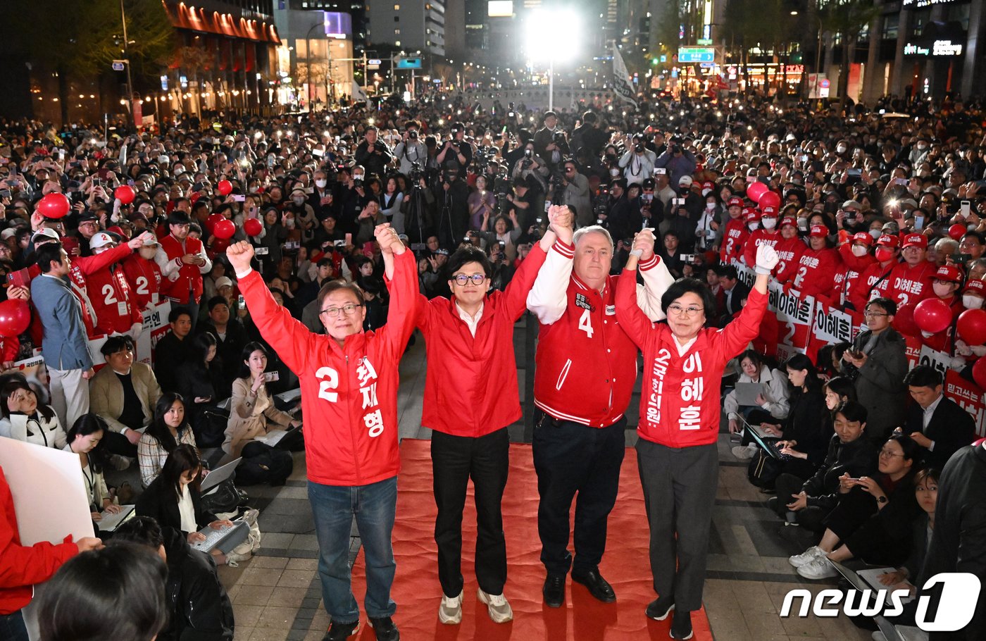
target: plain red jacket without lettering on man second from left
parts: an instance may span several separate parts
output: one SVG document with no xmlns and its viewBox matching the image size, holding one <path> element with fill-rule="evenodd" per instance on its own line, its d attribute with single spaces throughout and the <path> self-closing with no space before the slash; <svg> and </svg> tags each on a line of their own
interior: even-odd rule
<svg viewBox="0 0 986 641">
<path fill-rule="evenodd" d="M 475 337 L 459 318 L 455 297 L 418 295 L 417 324 L 428 350 L 422 425 L 479 437 L 520 420 L 514 323 L 546 255 L 535 245 L 507 288 L 486 297 Z"/>
</svg>

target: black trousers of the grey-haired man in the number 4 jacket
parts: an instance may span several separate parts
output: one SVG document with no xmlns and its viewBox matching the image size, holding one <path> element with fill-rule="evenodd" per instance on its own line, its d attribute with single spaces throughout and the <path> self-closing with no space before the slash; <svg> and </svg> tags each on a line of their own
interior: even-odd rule
<svg viewBox="0 0 986 641">
<path fill-rule="evenodd" d="M 534 430 L 537 534 L 548 574 L 595 570 L 606 547 L 606 520 L 616 503 L 625 449 L 626 418 L 597 428 L 560 421 L 543 412 Z M 576 492 L 578 498 L 576 499 Z M 575 499 L 575 562 L 568 551 Z"/>
</svg>

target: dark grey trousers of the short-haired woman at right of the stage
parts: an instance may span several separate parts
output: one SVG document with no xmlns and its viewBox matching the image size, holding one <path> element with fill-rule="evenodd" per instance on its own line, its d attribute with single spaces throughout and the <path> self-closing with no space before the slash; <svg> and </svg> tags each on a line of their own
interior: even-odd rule
<svg viewBox="0 0 986 641">
<path fill-rule="evenodd" d="M 637 465 L 651 528 L 654 591 L 678 611 L 696 610 L 702 606 L 719 451 L 715 443 L 669 448 L 640 439 Z"/>
</svg>

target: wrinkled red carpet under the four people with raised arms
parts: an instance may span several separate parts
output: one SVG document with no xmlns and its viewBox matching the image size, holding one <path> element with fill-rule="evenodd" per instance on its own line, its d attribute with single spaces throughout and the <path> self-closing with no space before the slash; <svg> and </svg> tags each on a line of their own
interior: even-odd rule
<svg viewBox="0 0 986 641">
<path fill-rule="evenodd" d="M 613 586 L 616 603 L 602 604 L 584 586 L 569 578 L 566 603 L 559 608 L 543 605 L 541 585 L 544 566 L 539 560 L 537 537 L 537 477 L 530 446 L 510 446 L 510 477 L 503 497 L 504 531 L 507 534 L 508 578 L 505 594 L 514 608 L 514 620 L 496 624 L 486 606 L 476 598 L 473 552 L 476 540 L 475 509 L 466 500 L 462 522 L 462 575 L 465 577 L 462 622 L 444 625 L 438 620 L 442 588 L 434 538 L 435 500 L 432 493 L 429 441 L 405 439 L 400 445 L 401 470 L 397 479 L 397 520 L 393 529 L 393 551 L 397 576 L 393 600 L 394 622 L 401 639 L 482 639 L 498 641 L 576 639 L 668 639 L 670 617 L 654 621 L 644 614 L 654 598 L 648 558 L 648 528 L 644 498 L 637 475 L 637 456 L 626 451 L 620 473 L 619 496 L 609 516 L 606 552 L 600 572 Z M 469 497 L 472 487 L 469 486 Z M 573 506 L 574 513 L 574 506 Z M 572 549 L 571 547 L 569 549 Z M 362 606 L 365 592 L 363 555 L 353 569 L 353 592 Z M 358 584 L 358 585 L 357 585 Z M 693 638 L 711 640 L 709 621 L 702 609 L 692 614 Z M 631 636 L 632 635 L 632 636 Z M 363 628 L 360 639 L 369 641 L 373 632 Z"/>
</svg>

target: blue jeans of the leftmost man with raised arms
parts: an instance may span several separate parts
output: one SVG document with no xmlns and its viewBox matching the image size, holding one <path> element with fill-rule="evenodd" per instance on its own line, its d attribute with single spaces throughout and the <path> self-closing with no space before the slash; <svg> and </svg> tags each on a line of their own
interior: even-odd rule
<svg viewBox="0 0 986 641">
<path fill-rule="evenodd" d="M 367 596 L 363 605 L 371 618 L 391 616 L 397 609 L 390 600 L 397 567 L 390 542 L 397 507 L 397 477 L 370 485 L 322 485 L 309 481 L 308 487 L 325 611 L 340 623 L 360 618 L 349 568 L 349 535 L 355 517 L 366 559 Z"/>
</svg>

